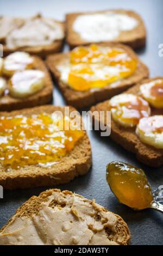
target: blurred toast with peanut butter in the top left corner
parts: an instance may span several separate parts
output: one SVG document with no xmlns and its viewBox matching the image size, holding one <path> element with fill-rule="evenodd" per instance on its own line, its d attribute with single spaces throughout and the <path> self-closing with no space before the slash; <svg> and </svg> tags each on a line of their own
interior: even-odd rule
<svg viewBox="0 0 163 256">
<path fill-rule="evenodd" d="M 0 17 L 0 43 L 3 44 L 4 56 L 24 51 L 45 58 L 61 51 L 64 38 L 64 22 L 41 14 L 27 19 Z"/>
</svg>

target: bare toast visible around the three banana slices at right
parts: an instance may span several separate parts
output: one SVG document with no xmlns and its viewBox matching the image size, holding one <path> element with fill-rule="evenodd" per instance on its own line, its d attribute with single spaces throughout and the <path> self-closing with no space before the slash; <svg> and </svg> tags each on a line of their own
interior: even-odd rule
<svg viewBox="0 0 163 256">
<path fill-rule="evenodd" d="M 156 78 L 149 78 L 142 81 L 136 86 L 128 89 L 125 93 L 131 93 L 140 95 L 139 88 L 142 83 L 151 82 Z M 91 108 L 93 111 L 108 111 L 108 101 L 97 104 Z M 163 109 L 156 109 L 151 107 L 151 115 L 163 114 Z M 97 117 L 92 115 L 93 119 L 97 120 Z M 156 149 L 150 145 L 147 145 L 140 141 L 135 133 L 136 128 L 123 127 L 118 125 L 113 119 L 111 119 L 111 134 L 110 137 L 123 148 L 127 149 L 131 153 L 134 153 L 137 159 L 148 166 L 159 167 L 163 164 L 163 149 Z"/>
</svg>

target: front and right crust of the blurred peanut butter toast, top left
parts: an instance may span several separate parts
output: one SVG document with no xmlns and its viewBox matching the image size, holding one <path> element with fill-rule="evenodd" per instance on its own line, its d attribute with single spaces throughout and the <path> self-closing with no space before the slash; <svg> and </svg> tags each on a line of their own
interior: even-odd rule
<svg viewBox="0 0 163 256">
<path fill-rule="evenodd" d="M 55 20 L 56 21 L 56 20 Z M 65 33 L 65 23 L 64 22 L 58 22 L 64 33 Z M 4 56 L 7 56 L 8 54 L 15 52 L 15 51 L 23 51 L 23 52 L 28 52 L 30 54 L 36 54 L 40 58 L 46 58 L 49 54 L 52 53 L 57 53 L 62 50 L 62 46 L 64 45 L 64 39 L 62 40 L 56 40 L 53 42 L 51 45 L 45 45 L 45 46 L 35 46 L 35 47 L 19 47 L 19 48 L 14 48 L 10 49 L 6 45 L 3 44 L 3 54 Z"/>
</svg>

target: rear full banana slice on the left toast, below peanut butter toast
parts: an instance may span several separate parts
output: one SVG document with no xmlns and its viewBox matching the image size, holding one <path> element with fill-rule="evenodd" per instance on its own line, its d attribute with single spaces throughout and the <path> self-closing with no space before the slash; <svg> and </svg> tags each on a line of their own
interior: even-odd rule
<svg viewBox="0 0 163 256">
<path fill-rule="evenodd" d="M 4 59 L 3 74 L 12 76 L 17 71 L 33 68 L 34 59 L 26 52 L 14 52 Z"/>
</svg>

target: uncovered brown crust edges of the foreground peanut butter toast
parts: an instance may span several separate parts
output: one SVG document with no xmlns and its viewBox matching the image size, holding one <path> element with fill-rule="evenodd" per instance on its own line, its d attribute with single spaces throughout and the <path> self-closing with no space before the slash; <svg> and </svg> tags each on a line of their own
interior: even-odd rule
<svg viewBox="0 0 163 256">
<path fill-rule="evenodd" d="M 52 195 L 54 192 L 61 192 L 61 190 L 57 188 L 53 188 L 51 190 L 46 190 L 39 194 L 39 196 L 33 196 L 29 198 L 24 204 L 22 204 L 15 212 L 15 215 L 10 218 L 8 223 L 0 229 L 0 233 L 7 227 L 7 225 L 14 220 L 15 217 L 31 217 L 32 215 L 37 215 L 41 208 L 41 204 L 43 202 L 46 202 L 48 200 L 48 197 Z M 62 191 L 65 196 L 67 194 L 72 195 L 73 193 L 71 191 Z M 75 194 L 78 197 L 82 197 L 79 194 Z M 87 200 L 87 199 L 85 199 Z M 91 200 L 88 200 L 89 202 L 92 202 Z M 101 206 L 102 211 L 108 212 L 107 209 L 103 208 Z M 113 213 L 114 214 L 114 213 Z M 128 228 L 128 225 L 124 220 L 117 214 L 114 214 L 117 218 L 117 225 L 115 227 L 115 235 L 109 234 L 112 237 L 112 241 L 118 241 L 120 245 L 128 245 L 130 243 L 130 231 Z"/>
</svg>

